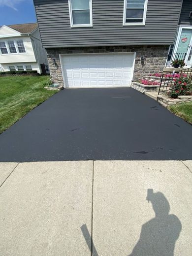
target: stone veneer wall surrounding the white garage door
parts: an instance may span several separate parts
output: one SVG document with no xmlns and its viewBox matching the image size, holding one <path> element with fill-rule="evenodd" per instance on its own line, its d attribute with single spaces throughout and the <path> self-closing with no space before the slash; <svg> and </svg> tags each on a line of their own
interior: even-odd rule
<svg viewBox="0 0 192 256">
<path fill-rule="evenodd" d="M 98 46 L 98 47 L 71 47 L 46 49 L 50 75 L 54 82 L 64 85 L 62 69 L 60 64 L 60 54 L 72 53 L 119 53 L 136 52 L 133 81 L 138 81 L 150 73 L 162 72 L 168 53 L 168 46 L 146 45 L 146 46 Z M 141 63 L 141 56 L 144 63 Z M 53 59 L 56 60 L 56 64 Z"/>
</svg>

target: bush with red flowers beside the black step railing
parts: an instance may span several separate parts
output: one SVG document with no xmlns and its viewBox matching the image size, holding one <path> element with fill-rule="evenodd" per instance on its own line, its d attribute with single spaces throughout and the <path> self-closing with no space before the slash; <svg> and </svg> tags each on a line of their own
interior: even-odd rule
<svg viewBox="0 0 192 256">
<path fill-rule="evenodd" d="M 180 95 L 192 95 L 192 78 L 181 76 L 174 79 L 170 86 L 169 96 L 177 98 Z"/>
</svg>

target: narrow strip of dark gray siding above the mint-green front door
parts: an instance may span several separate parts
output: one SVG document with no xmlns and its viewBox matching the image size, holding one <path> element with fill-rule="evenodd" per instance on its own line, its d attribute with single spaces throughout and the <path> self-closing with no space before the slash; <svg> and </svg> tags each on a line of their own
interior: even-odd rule
<svg viewBox="0 0 192 256">
<path fill-rule="evenodd" d="M 192 26 L 192 20 L 189 19 L 192 11 L 192 0 L 183 0 L 179 25 Z"/>
</svg>

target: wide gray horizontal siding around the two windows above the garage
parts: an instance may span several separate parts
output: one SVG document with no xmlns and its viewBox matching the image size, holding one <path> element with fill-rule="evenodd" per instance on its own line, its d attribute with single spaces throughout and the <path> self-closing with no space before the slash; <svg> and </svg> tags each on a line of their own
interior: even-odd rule
<svg viewBox="0 0 192 256">
<path fill-rule="evenodd" d="M 93 0 L 93 28 L 70 28 L 68 0 L 34 0 L 43 47 L 170 45 L 182 0 L 148 0 L 146 25 L 123 26 L 124 0 Z"/>
</svg>

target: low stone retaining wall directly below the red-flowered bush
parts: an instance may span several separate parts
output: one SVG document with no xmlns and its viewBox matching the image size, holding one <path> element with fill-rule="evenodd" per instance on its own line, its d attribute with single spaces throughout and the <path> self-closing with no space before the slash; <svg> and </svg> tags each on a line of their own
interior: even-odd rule
<svg viewBox="0 0 192 256">
<path fill-rule="evenodd" d="M 158 102 L 164 107 L 168 107 L 170 105 L 176 105 L 183 102 L 191 102 L 192 96 L 178 96 L 178 98 L 169 98 L 166 96 L 158 95 Z"/>
</svg>

